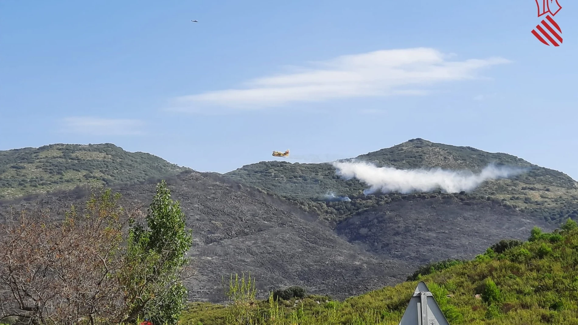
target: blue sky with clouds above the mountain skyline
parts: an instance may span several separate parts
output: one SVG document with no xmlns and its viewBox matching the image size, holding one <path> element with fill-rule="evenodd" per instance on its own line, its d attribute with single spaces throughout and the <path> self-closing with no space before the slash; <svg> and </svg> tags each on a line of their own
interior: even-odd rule
<svg viewBox="0 0 578 325">
<path fill-rule="evenodd" d="M 421 137 L 578 180 L 578 20 L 512 1 L 3 1 L 0 150 L 110 142 L 224 173 Z M 192 23 L 191 20 L 199 23 Z"/>
</svg>

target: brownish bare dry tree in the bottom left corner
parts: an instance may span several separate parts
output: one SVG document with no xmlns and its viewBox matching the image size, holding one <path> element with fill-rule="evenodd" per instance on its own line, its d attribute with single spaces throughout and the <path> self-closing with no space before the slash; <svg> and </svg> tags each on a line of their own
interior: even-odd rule
<svg viewBox="0 0 578 325">
<path fill-rule="evenodd" d="M 83 210 L 72 206 L 64 220 L 23 211 L 0 224 L 0 319 L 15 316 L 34 325 L 133 321 L 154 294 L 194 277 L 186 265 L 172 281 L 157 283 L 146 253 L 127 254 L 128 221 L 138 216 L 142 212 L 128 212 L 105 192 Z M 171 255 L 162 251 L 153 268 Z"/>
</svg>

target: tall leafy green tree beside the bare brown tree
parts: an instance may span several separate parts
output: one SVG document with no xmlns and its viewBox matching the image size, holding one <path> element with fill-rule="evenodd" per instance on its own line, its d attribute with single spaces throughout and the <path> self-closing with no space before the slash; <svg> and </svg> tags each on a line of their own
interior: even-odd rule
<svg viewBox="0 0 578 325">
<path fill-rule="evenodd" d="M 123 283 L 130 312 L 125 321 L 147 317 L 155 324 L 176 324 L 186 307 L 183 274 L 192 234 L 165 181 L 157 184 L 146 221 L 147 229 L 131 221 L 129 230 L 127 257 L 132 265 Z"/>
</svg>

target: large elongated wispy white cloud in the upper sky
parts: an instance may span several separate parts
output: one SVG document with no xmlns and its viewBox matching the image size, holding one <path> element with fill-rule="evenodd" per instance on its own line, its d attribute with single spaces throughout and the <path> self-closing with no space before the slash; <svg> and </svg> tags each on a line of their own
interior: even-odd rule
<svg viewBox="0 0 578 325">
<path fill-rule="evenodd" d="M 203 111 L 208 107 L 262 109 L 292 102 L 391 95 L 427 95 L 424 86 L 475 79 L 477 70 L 510 62 L 492 57 L 449 61 L 433 48 L 380 50 L 343 55 L 314 68 L 249 80 L 244 87 L 180 96 L 170 110 Z"/>
</svg>

